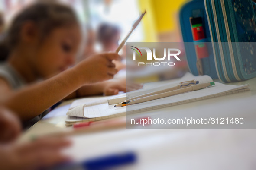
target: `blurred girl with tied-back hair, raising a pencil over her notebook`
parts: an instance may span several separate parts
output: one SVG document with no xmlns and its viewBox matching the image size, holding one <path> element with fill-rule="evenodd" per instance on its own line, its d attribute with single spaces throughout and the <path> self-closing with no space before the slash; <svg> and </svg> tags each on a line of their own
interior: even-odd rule
<svg viewBox="0 0 256 170">
<path fill-rule="evenodd" d="M 117 73 L 112 60 L 118 54 L 96 54 L 68 69 L 81 41 L 78 20 L 68 6 L 47 1 L 27 7 L 13 20 L 7 40 L 10 55 L 0 66 L 0 102 L 18 113 L 25 126 L 68 95 L 126 91 L 125 84 L 102 82 Z"/>
</svg>

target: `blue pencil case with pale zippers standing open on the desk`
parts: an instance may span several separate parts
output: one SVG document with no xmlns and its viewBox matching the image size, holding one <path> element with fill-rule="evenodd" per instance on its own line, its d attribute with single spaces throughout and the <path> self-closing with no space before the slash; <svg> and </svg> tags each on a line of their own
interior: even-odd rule
<svg viewBox="0 0 256 170">
<path fill-rule="evenodd" d="M 204 28 L 205 38 L 200 40 L 208 50 L 208 56 L 201 59 L 204 74 L 223 82 L 256 76 L 256 9 L 252 0 L 192 0 L 182 7 L 180 24 L 188 66 L 198 75 L 198 53 L 191 45 L 198 42 L 191 31 L 191 17 L 200 17 Z"/>
</svg>

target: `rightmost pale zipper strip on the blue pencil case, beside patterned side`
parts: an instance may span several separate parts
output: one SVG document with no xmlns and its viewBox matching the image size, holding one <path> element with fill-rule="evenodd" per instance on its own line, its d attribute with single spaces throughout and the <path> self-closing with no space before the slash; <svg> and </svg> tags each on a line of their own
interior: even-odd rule
<svg viewBox="0 0 256 170">
<path fill-rule="evenodd" d="M 220 3 L 221 3 L 222 13 L 223 13 L 223 18 L 224 18 L 224 23 L 225 23 L 225 29 L 227 32 L 227 41 L 228 41 L 227 43 L 228 43 L 229 51 L 230 51 L 230 60 L 232 63 L 233 73 L 234 73 L 235 78 L 238 81 L 241 81 L 240 77 L 237 74 L 237 68 L 236 68 L 236 64 L 235 64 L 235 60 L 234 60 L 233 47 L 232 47 L 232 42 L 231 42 L 231 37 L 230 37 L 229 25 L 227 22 L 227 13 L 226 13 L 226 9 L 225 9 L 224 0 L 220 0 Z"/>
</svg>

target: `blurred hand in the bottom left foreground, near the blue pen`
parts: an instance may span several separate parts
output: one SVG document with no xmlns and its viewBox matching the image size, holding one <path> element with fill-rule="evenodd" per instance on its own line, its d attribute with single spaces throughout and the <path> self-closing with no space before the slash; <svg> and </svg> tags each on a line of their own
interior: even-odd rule
<svg viewBox="0 0 256 170">
<path fill-rule="evenodd" d="M 70 160 L 61 153 L 71 145 L 64 138 L 48 137 L 25 144 L 0 145 L 1 170 L 36 170 Z"/>
</svg>

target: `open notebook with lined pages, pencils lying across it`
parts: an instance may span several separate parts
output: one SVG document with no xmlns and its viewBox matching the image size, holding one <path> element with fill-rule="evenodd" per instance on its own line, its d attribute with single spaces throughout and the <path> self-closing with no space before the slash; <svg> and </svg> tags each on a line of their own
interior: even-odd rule
<svg viewBox="0 0 256 170">
<path fill-rule="evenodd" d="M 134 96 L 146 94 L 159 89 L 174 87 L 178 85 L 180 82 L 189 81 L 193 79 L 198 80 L 199 83 L 213 81 L 210 76 L 193 76 L 190 73 L 187 73 L 178 81 L 164 82 L 163 84 L 159 84 L 159 82 L 151 83 L 146 85 L 145 88 L 143 87 L 143 89 L 132 91 L 126 94 L 116 95 L 115 98 L 123 98 L 124 95 L 126 95 L 126 97 L 129 99 Z M 155 88 L 156 86 L 157 88 Z M 88 101 L 88 99 L 86 98 L 79 99 L 79 101 L 74 101 L 74 103 L 71 104 L 71 109 L 67 112 L 68 116 L 66 118 L 66 123 L 104 120 L 125 114 L 140 113 L 149 110 L 171 107 L 178 104 L 185 104 L 192 101 L 199 101 L 207 98 L 214 98 L 218 96 L 223 96 L 247 90 L 250 90 L 249 85 L 224 85 L 222 83 L 215 82 L 214 86 L 204 88 L 198 91 L 191 91 L 183 94 L 169 96 L 166 98 L 160 98 L 139 104 L 133 104 L 125 107 L 114 107 L 115 104 L 109 105 L 107 99 L 113 97 L 95 98 L 94 101 L 92 101 L 91 99 L 90 101 Z"/>
</svg>

